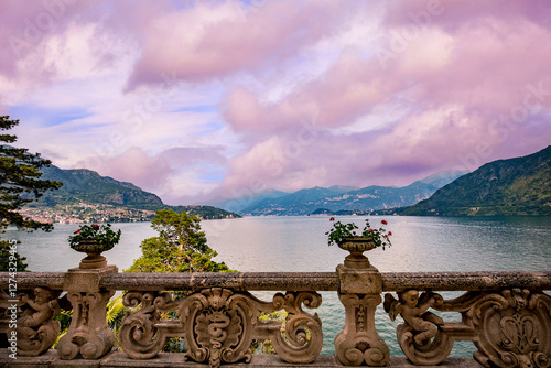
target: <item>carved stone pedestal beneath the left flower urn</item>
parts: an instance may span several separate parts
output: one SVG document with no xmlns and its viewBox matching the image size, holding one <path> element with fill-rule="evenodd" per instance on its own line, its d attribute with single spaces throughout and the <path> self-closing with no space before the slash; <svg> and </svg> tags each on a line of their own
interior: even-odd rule
<svg viewBox="0 0 551 368">
<path fill-rule="evenodd" d="M 73 359 L 78 354 L 85 359 L 99 359 L 111 350 L 115 334 L 107 325 L 106 307 L 115 291 L 100 289 L 99 280 L 117 271 L 116 266 L 106 266 L 65 273 L 63 290 L 73 305 L 73 318 L 57 345 L 62 359 Z"/>
</svg>

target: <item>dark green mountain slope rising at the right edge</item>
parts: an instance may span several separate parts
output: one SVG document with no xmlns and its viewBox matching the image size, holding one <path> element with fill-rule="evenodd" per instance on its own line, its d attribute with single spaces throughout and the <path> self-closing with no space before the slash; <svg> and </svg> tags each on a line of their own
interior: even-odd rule
<svg viewBox="0 0 551 368">
<path fill-rule="evenodd" d="M 551 215 L 551 145 L 487 163 L 401 215 Z"/>
</svg>

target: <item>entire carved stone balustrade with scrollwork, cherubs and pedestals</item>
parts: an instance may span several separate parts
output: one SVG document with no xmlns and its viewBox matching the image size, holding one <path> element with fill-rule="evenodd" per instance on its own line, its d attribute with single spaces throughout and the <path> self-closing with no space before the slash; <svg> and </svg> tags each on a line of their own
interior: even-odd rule
<svg viewBox="0 0 551 368">
<path fill-rule="evenodd" d="M 334 359 L 342 365 L 389 362 L 387 343 L 375 327 L 385 299 L 390 320 L 403 320 L 397 339 L 415 365 L 437 365 L 455 340 L 472 340 L 474 358 L 485 367 L 551 366 L 551 297 L 544 293 L 551 290 L 551 272 L 380 273 L 345 261 L 336 272 L 317 273 L 119 273 L 107 266 L 11 277 L 0 273 L 0 333 L 9 345 L 0 366 L 7 367 L 15 367 L 15 357 L 51 364 L 39 359 L 44 354 L 88 361 L 117 354 L 147 367 L 175 336 L 185 340 L 183 359 L 210 367 L 251 361 L 253 339 L 270 339 L 290 367 L 321 365 L 322 323 L 304 309 L 321 305 L 321 291 L 337 292 L 344 306 L 345 325 L 334 342 Z M 117 291 L 126 292 L 130 310 L 115 336 L 106 305 Z M 253 291 L 274 294 L 262 301 Z M 443 291 L 464 294 L 444 300 L 435 293 Z M 48 350 L 60 335 L 54 317 L 62 309 L 73 310 L 71 325 L 56 350 Z M 284 333 L 281 322 L 260 318 L 274 311 L 287 312 Z M 439 312 L 455 312 L 461 321 L 445 321 Z M 116 340 L 122 353 L 114 353 Z"/>
</svg>

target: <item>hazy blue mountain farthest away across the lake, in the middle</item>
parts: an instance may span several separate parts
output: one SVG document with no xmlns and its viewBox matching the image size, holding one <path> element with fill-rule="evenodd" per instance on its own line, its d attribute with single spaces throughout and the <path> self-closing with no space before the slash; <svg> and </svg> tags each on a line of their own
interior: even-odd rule
<svg viewBox="0 0 551 368">
<path fill-rule="evenodd" d="M 266 198 L 244 208 L 240 214 L 252 216 L 310 215 L 312 213 L 369 212 L 380 208 L 409 206 L 428 198 L 461 173 L 440 173 L 403 187 L 344 186 L 313 187 L 288 195 Z"/>
</svg>

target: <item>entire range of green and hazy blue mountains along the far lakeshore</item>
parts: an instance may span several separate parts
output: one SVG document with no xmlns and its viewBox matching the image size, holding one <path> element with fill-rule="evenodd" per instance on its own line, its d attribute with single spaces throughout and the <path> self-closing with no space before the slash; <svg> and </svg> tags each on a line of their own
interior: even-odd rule
<svg viewBox="0 0 551 368">
<path fill-rule="evenodd" d="M 155 194 L 131 183 L 85 169 L 51 165 L 43 173 L 43 178 L 64 185 L 29 207 L 101 204 L 144 210 L 173 208 L 203 218 L 364 215 L 377 210 L 414 216 L 551 215 L 551 145 L 527 156 L 489 162 L 472 173 L 441 172 L 402 187 L 316 186 L 294 193 L 271 190 L 219 199 L 210 203 L 213 206 L 169 206 Z"/>
</svg>

